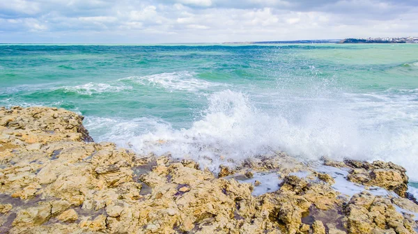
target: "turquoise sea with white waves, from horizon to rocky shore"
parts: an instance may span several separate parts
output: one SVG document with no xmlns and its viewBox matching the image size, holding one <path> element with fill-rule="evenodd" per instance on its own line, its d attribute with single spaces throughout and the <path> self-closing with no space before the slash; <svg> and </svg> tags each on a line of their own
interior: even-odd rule
<svg viewBox="0 0 418 234">
<path fill-rule="evenodd" d="M 77 111 L 139 154 L 382 159 L 418 180 L 418 45 L 0 45 L 0 84 L 0 106 Z"/>
</svg>

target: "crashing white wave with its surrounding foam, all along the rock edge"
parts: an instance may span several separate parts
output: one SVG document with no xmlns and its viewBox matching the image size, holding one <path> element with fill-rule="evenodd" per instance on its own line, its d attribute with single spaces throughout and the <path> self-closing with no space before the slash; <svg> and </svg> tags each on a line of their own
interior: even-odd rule
<svg viewBox="0 0 418 234">
<path fill-rule="evenodd" d="M 249 95 L 226 90 L 208 96 L 208 107 L 187 129 L 160 118 L 87 117 L 86 127 L 96 141 L 116 141 L 140 155 L 191 158 L 212 171 L 279 150 L 307 160 L 392 161 L 418 181 L 418 100 L 393 93 L 286 99 L 286 108 L 260 109 Z"/>
</svg>

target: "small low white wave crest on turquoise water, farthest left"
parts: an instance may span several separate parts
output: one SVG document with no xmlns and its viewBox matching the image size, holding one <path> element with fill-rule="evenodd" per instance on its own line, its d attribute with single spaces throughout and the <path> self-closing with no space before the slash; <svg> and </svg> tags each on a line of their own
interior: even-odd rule
<svg viewBox="0 0 418 234">
<path fill-rule="evenodd" d="M 127 89 L 132 89 L 132 86 L 112 86 L 106 83 L 87 83 L 78 86 L 63 86 L 53 88 L 53 90 L 61 90 L 65 93 L 78 93 L 81 95 L 93 95 L 98 93 L 118 93 Z"/>
</svg>

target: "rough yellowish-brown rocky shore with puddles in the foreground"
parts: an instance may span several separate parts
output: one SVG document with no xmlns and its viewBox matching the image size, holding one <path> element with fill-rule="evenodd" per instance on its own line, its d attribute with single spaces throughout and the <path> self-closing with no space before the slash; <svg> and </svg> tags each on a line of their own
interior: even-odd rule
<svg viewBox="0 0 418 234">
<path fill-rule="evenodd" d="M 215 175 L 95 143 L 82 120 L 0 108 L 0 233 L 416 233 L 408 176 L 391 162 L 277 153 Z"/>
</svg>

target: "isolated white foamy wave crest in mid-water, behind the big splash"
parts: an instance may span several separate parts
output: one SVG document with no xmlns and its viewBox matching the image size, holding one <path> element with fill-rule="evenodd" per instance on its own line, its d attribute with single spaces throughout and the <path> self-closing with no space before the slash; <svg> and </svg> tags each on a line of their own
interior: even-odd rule
<svg viewBox="0 0 418 234">
<path fill-rule="evenodd" d="M 194 78 L 194 72 L 164 72 L 144 77 L 126 77 L 119 81 L 133 81 L 141 85 L 157 86 L 168 90 L 177 91 L 200 91 L 213 86 L 222 86 L 223 84 Z"/>
</svg>

